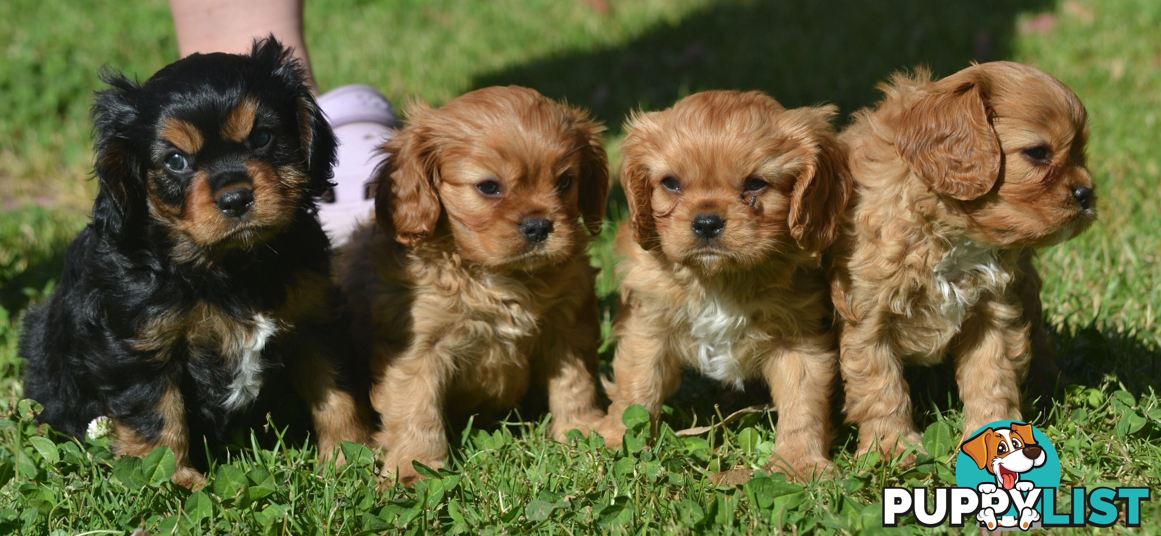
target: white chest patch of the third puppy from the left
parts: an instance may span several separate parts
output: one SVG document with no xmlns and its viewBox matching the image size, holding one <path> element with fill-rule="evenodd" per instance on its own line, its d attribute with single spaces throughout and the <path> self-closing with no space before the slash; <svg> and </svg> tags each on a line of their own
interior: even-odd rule
<svg viewBox="0 0 1161 536">
<path fill-rule="evenodd" d="M 701 307 L 691 311 L 690 324 L 693 356 L 701 374 L 741 389 L 745 371 L 734 343 L 750 327 L 750 317 L 733 299 L 711 290 Z"/>
</svg>

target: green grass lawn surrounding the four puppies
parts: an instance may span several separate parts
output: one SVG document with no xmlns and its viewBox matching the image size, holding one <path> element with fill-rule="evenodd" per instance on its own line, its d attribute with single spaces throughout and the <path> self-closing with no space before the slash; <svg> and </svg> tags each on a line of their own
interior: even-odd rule
<svg viewBox="0 0 1161 536">
<path fill-rule="evenodd" d="M 307 34 L 324 90 L 369 82 L 396 102 L 441 103 L 479 86 L 528 85 L 591 108 L 610 124 L 614 154 L 628 110 L 700 89 L 765 89 L 787 106 L 830 101 L 850 113 L 875 99 L 875 81 L 916 64 L 943 75 L 973 58 L 1048 70 L 1088 107 L 1101 223 L 1040 256 L 1045 320 L 1076 385 L 1025 417 L 1054 440 L 1063 485 L 1161 487 L 1161 3 L 608 3 L 603 14 L 579 0 L 323 0 L 307 5 Z M 853 430 L 841 426 L 841 475 L 803 486 L 708 480 L 760 468 L 773 415 L 676 437 L 673 429 L 763 401 L 758 386 L 734 393 L 693 374 L 649 442 L 619 451 L 599 439 L 561 444 L 547 440 L 543 415 L 513 413 L 452 430 L 449 470 L 414 490 L 377 491 L 370 454 L 355 446 L 353 464 L 318 473 L 311 443 L 254 440 L 218 456 L 210 484 L 190 494 L 166 481 L 164 451 L 116 461 L 108 444 L 37 427 L 34 408 L 19 404 L 16 321 L 51 291 L 64 246 L 87 220 L 96 71 L 107 64 L 145 78 L 176 59 L 176 48 L 163 1 L 8 0 L 0 50 L 0 534 L 861 534 L 884 530 L 882 486 L 954 483 L 961 406 L 945 367 L 911 374 L 930 456 L 915 466 L 856 458 Z M 613 196 L 611 215 L 623 219 L 623 197 Z M 593 252 L 606 319 L 616 288 L 611 239 L 606 231 Z M 1137 530 L 1161 533 L 1159 514 L 1161 501 L 1145 504 Z"/>
</svg>

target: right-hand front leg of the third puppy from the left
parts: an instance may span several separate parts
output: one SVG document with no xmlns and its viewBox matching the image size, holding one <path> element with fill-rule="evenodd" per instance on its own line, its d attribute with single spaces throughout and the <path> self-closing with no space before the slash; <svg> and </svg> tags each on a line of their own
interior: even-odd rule
<svg viewBox="0 0 1161 536">
<path fill-rule="evenodd" d="M 824 341 L 774 350 L 763 371 L 778 411 L 777 446 L 770 463 L 792 478 L 808 480 L 831 463 L 830 394 L 838 355 Z"/>
</svg>

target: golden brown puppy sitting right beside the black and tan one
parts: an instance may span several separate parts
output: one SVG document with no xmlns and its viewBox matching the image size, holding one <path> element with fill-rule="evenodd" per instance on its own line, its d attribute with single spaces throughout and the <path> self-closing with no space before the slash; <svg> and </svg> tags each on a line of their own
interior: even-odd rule
<svg viewBox="0 0 1161 536">
<path fill-rule="evenodd" d="M 601 126 L 522 87 L 413 106 L 383 151 L 377 225 L 355 232 L 341 285 L 369 338 L 384 476 L 447 455 L 444 413 L 547 390 L 553 435 L 587 433 L 600 328 L 585 253 L 608 194 Z M 398 471 L 398 472 L 396 472 Z"/>
</svg>

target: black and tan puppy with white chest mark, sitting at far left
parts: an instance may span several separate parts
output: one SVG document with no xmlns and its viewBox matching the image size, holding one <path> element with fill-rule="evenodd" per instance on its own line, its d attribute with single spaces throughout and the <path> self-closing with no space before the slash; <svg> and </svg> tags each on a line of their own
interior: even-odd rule
<svg viewBox="0 0 1161 536">
<path fill-rule="evenodd" d="M 108 417 L 117 454 L 167 446 L 190 486 L 190 437 L 222 439 L 286 364 L 323 459 L 367 440 L 315 216 L 336 142 L 303 80 L 273 37 L 104 77 L 93 222 L 21 343 L 42 421 L 81 436 Z"/>
</svg>

